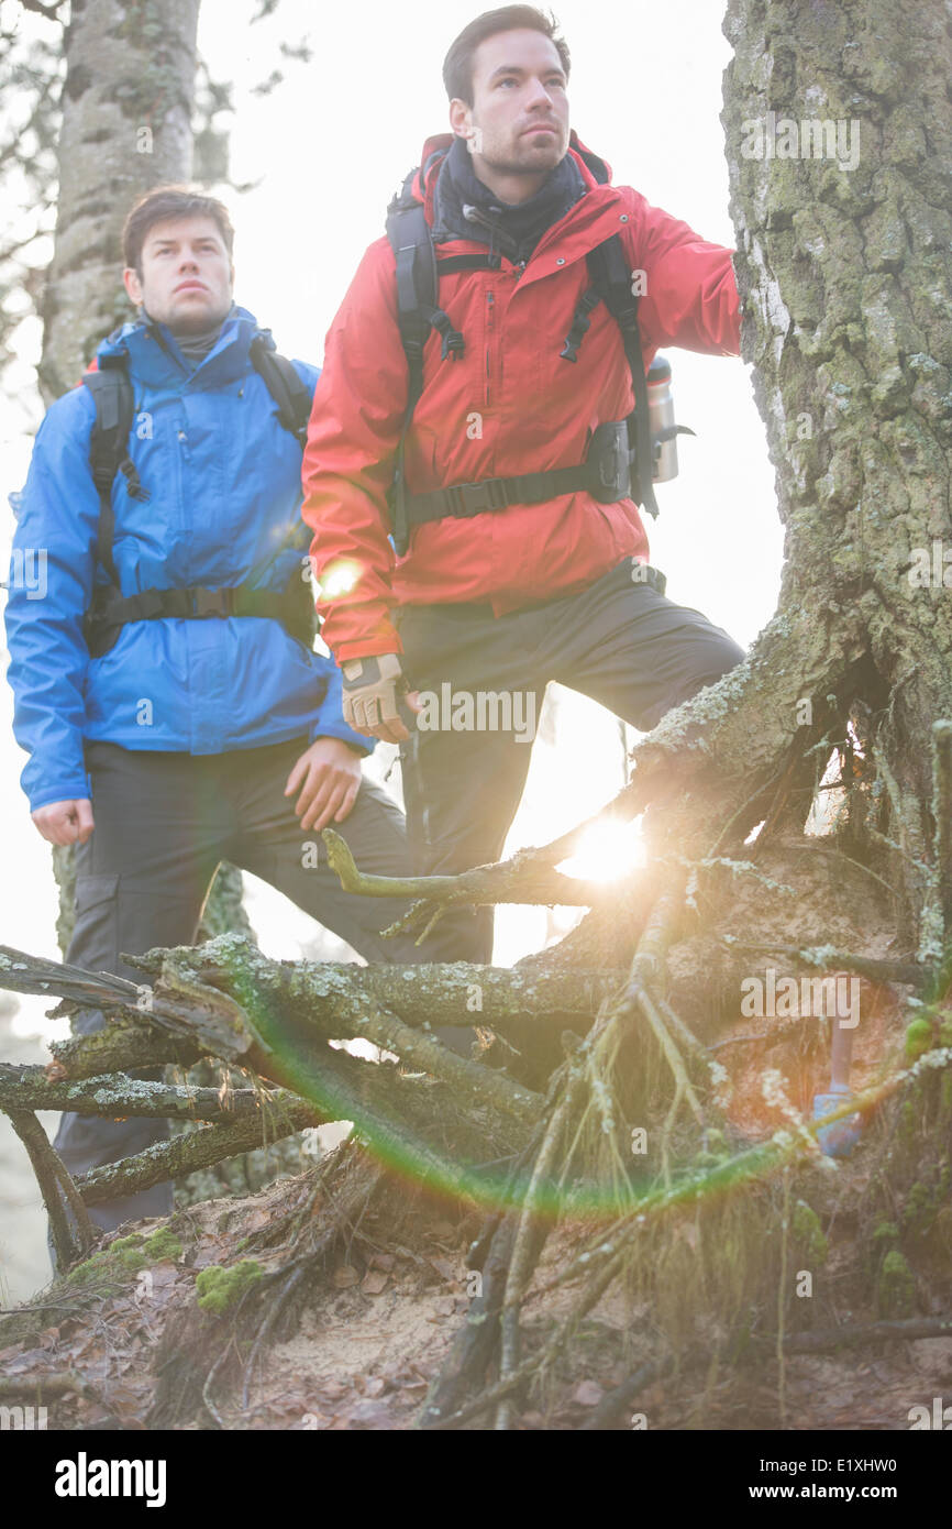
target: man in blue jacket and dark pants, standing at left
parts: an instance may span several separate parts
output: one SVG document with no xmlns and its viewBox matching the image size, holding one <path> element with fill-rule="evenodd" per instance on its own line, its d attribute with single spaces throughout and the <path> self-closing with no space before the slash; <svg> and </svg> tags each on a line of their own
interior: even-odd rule
<svg viewBox="0 0 952 1529">
<path fill-rule="evenodd" d="M 368 960 L 419 960 L 377 933 L 403 905 L 345 894 L 327 865 L 333 824 L 358 864 L 406 875 L 403 820 L 362 778 L 373 743 L 345 725 L 341 674 L 312 645 L 300 502 L 318 370 L 275 362 L 232 301 L 231 252 L 212 197 L 165 187 L 133 208 L 139 318 L 52 405 L 17 497 L 6 630 L 23 787 L 43 838 L 78 846 L 67 960 L 131 980 L 121 951 L 194 942 L 222 859 Z M 165 1135 L 64 1115 L 57 1147 L 78 1174 Z M 165 1183 L 93 1219 L 168 1211 Z"/>
</svg>

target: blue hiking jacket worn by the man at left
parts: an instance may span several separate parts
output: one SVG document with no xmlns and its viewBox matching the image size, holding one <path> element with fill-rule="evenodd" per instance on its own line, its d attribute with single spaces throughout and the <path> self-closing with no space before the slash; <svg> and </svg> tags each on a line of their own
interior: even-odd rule
<svg viewBox="0 0 952 1529">
<path fill-rule="evenodd" d="M 249 361 L 260 333 L 232 307 L 215 347 L 193 370 L 164 324 L 138 321 L 98 350 L 124 355 L 136 398 L 130 456 L 147 502 L 113 483 L 113 557 L 124 595 L 189 584 L 240 584 L 292 532 L 260 589 L 281 590 L 306 564 L 300 517 L 301 448 Z M 318 368 L 295 361 L 312 388 Z M 83 636 L 96 564 L 99 495 L 89 465 L 93 399 L 76 387 L 37 434 L 21 494 L 6 641 L 14 732 L 29 754 L 21 783 L 31 810 L 89 797 L 84 739 L 127 749 L 222 754 L 295 737 L 342 739 L 370 754 L 341 709 L 341 673 L 278 621 L 138 621 L 90 659 Z M 293 532 L 300 526 L 300 535 Z"/>
</svg>

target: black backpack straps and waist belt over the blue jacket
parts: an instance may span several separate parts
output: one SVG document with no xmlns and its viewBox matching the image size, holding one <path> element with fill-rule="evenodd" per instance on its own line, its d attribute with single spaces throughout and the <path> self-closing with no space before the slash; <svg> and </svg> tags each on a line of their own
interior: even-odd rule
<svg viewBox="0 0 952 1529">
<path fill-rule="evenodd" d="M 304 448 L 312 404 L 310 390 L 292 362 L 269 350 L 261 335 L 252 339 L 249 359 L 277 404 L 280 424 Z M 293 570 L 283 590 L 254 587 L 275 557 L 293 541 L 300 526 L 295 526 L 281 546 L 264 563 L 252 569 L 241 584 L 225 589 L 189 586 L 186 589 L 145 589 L 138 595 L 121 593 L 119 573 L 113 558 L 116 518 L 112 489 L 116 474 L 121 472 L 125 479 L 131 498 L 145 502 L 151 497 L 150 491 L 139 482 L 139 474 L 128 454 L 128 437 L 136 408 L 134 393 L 125 362 L 118 356 L 104 358 L 101 370 L 87 372 L 83 384 L 92 393 L 96 407 L 89 462 L 99 494 L 96 557 L 108 578 L 108 584 L 95 586 L 83 622 L 90 656 L 101 657 L 108 653 L 127 622 L 157 621 L 164 616 L 185 619 L 269 616 L 280 621 L 290 636 L 312 648 L 318 630 L 315 604 L 307 581 L 298 576 L 298 570 Z"/>
</svg>

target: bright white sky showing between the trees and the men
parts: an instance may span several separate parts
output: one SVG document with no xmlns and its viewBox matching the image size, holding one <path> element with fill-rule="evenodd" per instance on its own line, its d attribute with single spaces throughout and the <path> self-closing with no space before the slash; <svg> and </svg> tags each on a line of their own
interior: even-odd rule
<svg viewBox="0 0 952 1529">
<path fill-rule="evenodd" d="M 267 324 L 281 350 L 319 361 L 322 336 L 364 248 L 384 231 L 387 202 L 419 162 L 423 139 L 446 130 L 440 64 L 455 32 L 477 14 L 474 0 L 364 0 L 315 8 L 281 0 L 251 28 L 252 0 L 203 0 L 200 50 L 219 80 L 235 81 L 232 177 L 261 183 L 229 196 L 237 226 L 237 298 Z M 573 55 L 572 121 L 613 167 L 706 239 L 733 243 L 721 72 L 729 47 L 718 0 L 665 5 L 562 0 L 556 5 Z M 289 63 L 270 96 L 251 95 L 274 67 L 281 40 L 312 34 L 310 64 Z M 38 329 L 24 336 L 15 405 L 0 404 L 3 494 L 23 482 L 29 437 L 23 398 L 37 359 Z M 678 419 L 697 440 L 680 446 L 682 476 L 659 492 L 652 561 L 668 593 L 697 605 L 749 644 L 773 612 L 781 529 L 773 471 L 747 368 L 740 361 L 671 355 Z M 0 543 L 12 517 L 0 511 Z M 6 553 L 3 553 L 6 561 Z M 617 725 L 567 694 L 556 751 L 536 748 L 526 806 L 510 846 L 539 842 L 594 810 L 619 787 Z M 23 754 L 9 731 L 11 697 L 0 697 L 0 781 L 5 875 L 0 942 L 57 954 L 55 885 L 49 850 L 31 824 L 18 786 Z M 295 956 L 313 925 L 257 885 L 252 919 L 275 956 Z M 544 910 L 507 910 L 497 960 L 541 942 Z M 18 1023 L 35 1024 L 24 1005 Z"/>
</svg>

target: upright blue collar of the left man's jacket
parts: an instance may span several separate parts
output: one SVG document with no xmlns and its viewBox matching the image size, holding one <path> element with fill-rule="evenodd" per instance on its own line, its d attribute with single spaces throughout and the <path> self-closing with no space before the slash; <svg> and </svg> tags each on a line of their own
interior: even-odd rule
<svg viewBox="0 0 952 1529">
<path fill-rule="evenodd" d="M 99 367 L 124 362 L 131 376 L 150 387 L 215 388 L 251 370 L 249 347 L 257 335 L 264 336 L 269 350 L 275 349 L 270 332 L 258 327 L 254 313 L 232 304 L 214 347 L 193 370 L 165 324 L 138 318 L 102 341 L 96 361 Z"/>
</svg>

